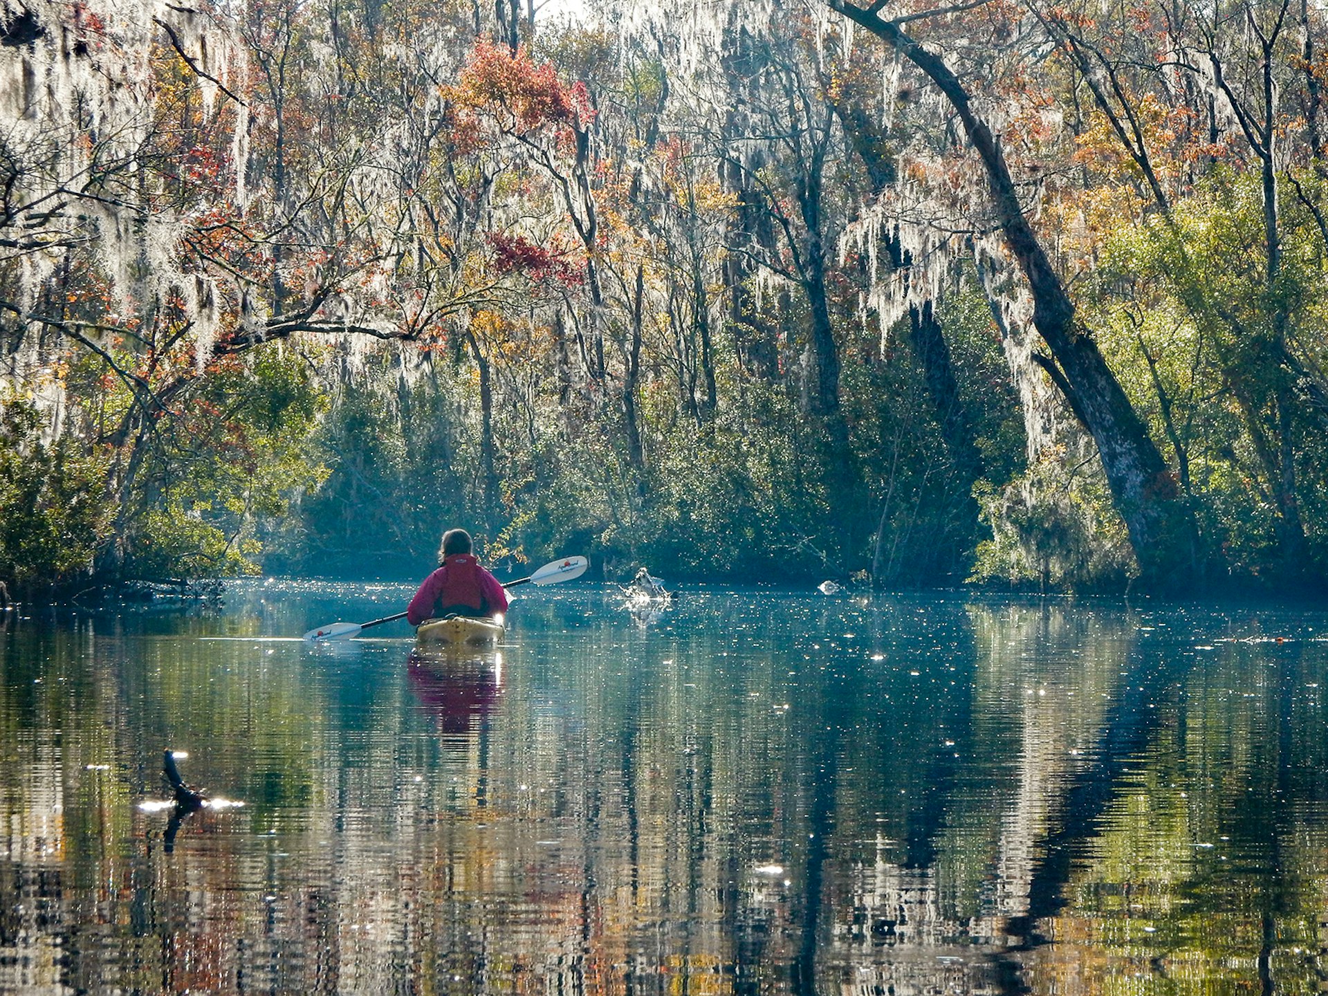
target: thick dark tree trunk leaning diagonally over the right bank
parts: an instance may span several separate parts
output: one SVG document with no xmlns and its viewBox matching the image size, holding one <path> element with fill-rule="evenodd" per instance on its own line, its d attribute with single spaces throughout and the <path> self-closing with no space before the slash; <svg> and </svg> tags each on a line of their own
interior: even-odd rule
<svg viewBox="0 0 1328 996">
<path fill-rule="evenodd" d="M 918 66 L 959 114 L 987 171 L 1005 246 L 1019 262 L 1033 296 L 1033 324 L 1052 360 L 1044 368 L 1065 393 L 1074 414 L 1093 436 L 1117 511 L 1125 521 L 1146 587 L 1190 582 L 1199 568 L 1198 531 L 1138 413 L 1088 329 L 1076 323 L 1074 304 L 1033 232 L 1011 178 L 1005 155 L 987 122 L 977 117 L 968 90 L 944 60 L 872 8 L 826 0 Z"/>
</svg>

